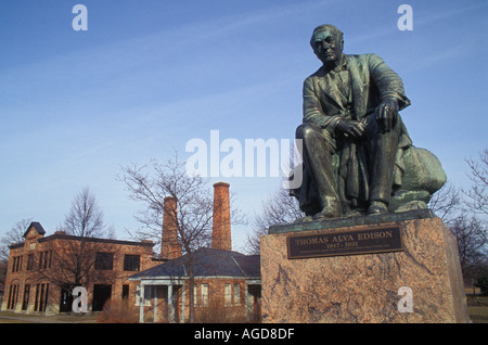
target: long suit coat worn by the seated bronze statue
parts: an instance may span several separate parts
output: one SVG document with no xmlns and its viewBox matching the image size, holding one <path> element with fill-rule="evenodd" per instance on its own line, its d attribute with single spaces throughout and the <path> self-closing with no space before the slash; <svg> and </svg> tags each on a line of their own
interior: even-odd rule
<svg viewBox="0 0 488 345">
<path fill-rule="evenodd" d="M 336 79 L 336 74 L 344 69 L 349 71 L 352 99 L 350 100 L 349 98 L 348 104 L 343 103 L 347 100 L 341 97 L 342 93 L 338 90 L 338 81 Z M 362 149 L 356 149 L 356 144 L 351 139 L 345 139 L 343 135 L 335 133 L 336 124 L 341 118 L 350 118 L 362 122 L 368 126 L 368 122 L 374 116 L 373 114 L 382 101 L 391 98 L 398 101 L 399 110 L 410 105 L 410 100 L 404 94 L 403 82 L 400 77 L 376 54 L 343 54 L 342 63 L 334 71 L 328 71 L 322 66 L 306 78 L 304 82 L 303 120 L 304 123 L 312 123 L 318 128 L 321 128 L 322 136 L 329 142 L 329 148 L 334 154 L 331 164 L 334 169 L 337 169 L 338 175 L 344 176 L 346 180 L 346 191 L 344 193 L 347 195 L 355 197 L 363 195 L 362 199 L 368 199 L 368 192 L 365 191 L 368 187 L 360 187 L 355 182 L 359 180 L 358 175 L 367 174 L 363 170 L 364 164 L 358 164 L 359 161 L 364 162 L 365 155 L 361 153 Z M 396 171 L 394 174 L 394 183 L 397 186 L 401 184 L 401 171 L 404 170 L 403 150 L 412 144 L 401 117 L 399 122 L 401 131 L 396 158 Z M 346 142 L 342 142 L 338 145 L 337 140 L 346 140 Z M 359 146 L 362 146 L 362 144 Z M 336 150 L 341 151 L 337 152 Z M 348 166 L 345 168 L 347 173 L 343 174 L 341 171 L 345 162 L 348 162 Z M 365 181 L 365 179 L 362 180 Z M 298 197 L 303 209 L 317 207 L 312 204 L 317 197 L 313 196 L 314 190 L 311 181 L 309 171 L 304 168 L 303 184 L 292 192 Z"/>
</svg>

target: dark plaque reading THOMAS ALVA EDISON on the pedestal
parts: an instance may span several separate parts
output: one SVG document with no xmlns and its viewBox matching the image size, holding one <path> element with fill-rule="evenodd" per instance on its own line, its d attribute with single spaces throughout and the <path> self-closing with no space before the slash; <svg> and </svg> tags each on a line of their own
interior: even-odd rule
<svg viewBox="0 0 488 345">
<path fill-rule="evenodd" d="M 403 250 L 399 227 L 290 235 L 286 242 L 288 259 Z"/>
</svg>

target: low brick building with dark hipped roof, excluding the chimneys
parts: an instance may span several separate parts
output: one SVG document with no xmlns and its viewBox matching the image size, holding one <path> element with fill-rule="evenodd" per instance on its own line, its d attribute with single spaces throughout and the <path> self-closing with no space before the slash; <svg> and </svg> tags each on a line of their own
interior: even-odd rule
<svg viewBox="0 0 488 345">
<path fill-rule="evenodd" d="M 196 321 L 215 322 L 222 316 L 227 316 L 227 322 L 243 322 L 249 317 L 256 319 L 260 312 L 259 255 L 200 248 L 193 253 L 193 258 L 194 306 L 195 315 L 200 316 Z M 143 301 L 139 304 L 140 322 L 188 320 L 187 255 L 136 273 L 129 280 L 140 283 L 140 298 Z"/>
</svg>

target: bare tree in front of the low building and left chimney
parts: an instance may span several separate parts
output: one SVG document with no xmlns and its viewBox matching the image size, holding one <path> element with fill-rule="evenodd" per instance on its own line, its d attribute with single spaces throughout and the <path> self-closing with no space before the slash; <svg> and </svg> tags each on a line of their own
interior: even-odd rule
<svg viewBox="0 0 488 345">
<path fill-rule="evenodd" d="M 123 167 L 123 175 L 117 179 L 125 183 L 130 197 L 143 206 L 136 216 L 137 220 L 149 228 L 150 231 L 140 231 L 139 235 L 160 242 L 163 229 L 163 215 L 165 213 L 164 200 L 172 196 L 177 207 L 166 209 L 177 219 L 175 221 L 178 232 L 178 242 L 188 258 L 189 291 L 194 286 L 194 258 L 193 253 L 200 247 L 210 243 L 213 221 L 213 194 L 209 189 L 209 179 L 201 176 L 189 176 L 184 163 L 174 159 L 166 163 L 152 161 L 151 165 Z M 189 294 L 189 321 L 194 321 L 194 296 Z"/>
</svg>

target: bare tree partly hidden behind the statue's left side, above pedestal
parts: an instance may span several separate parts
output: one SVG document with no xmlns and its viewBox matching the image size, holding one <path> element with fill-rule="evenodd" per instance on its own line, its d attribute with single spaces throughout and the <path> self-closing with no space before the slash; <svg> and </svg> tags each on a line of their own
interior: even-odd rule
<svg viewBox="0 0 488 345">
<path fill-rule="evenodd" d="M 262 202 L 262 210 L 253 219 L 253 230 L 247 233 L 245 240 L 246 252 L 259 253 L 260 237 L 268 234 L 271 226 L 292 223 L 305 217 L 295 197 L 290 196 L 288 191 L 279 187 L 277 191 Z"/>
</svg>

